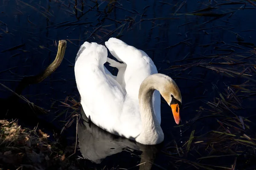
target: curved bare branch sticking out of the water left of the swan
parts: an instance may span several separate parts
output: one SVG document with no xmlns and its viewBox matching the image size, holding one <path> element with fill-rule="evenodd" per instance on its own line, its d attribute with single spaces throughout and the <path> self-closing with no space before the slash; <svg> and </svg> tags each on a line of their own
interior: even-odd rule
<svg viewBox="0 0 256 170">
<path fill-rule="evenodd" d="M 49 75 L 51 75 L 61 64 L 62 59 L 64 58 L 66 46 L 67 46 L 66 40 L 59 40 L 58 52 L 55 57 L 55 60 L 44 71 L 42 71 L 38 75 L 24 77 L 20 81 L 20 84 L 17 86 L 15 93 L 20 95 L 22 93 L 22 91 L 24 90 L 24 88 L 26 88 L 28 85 L 42 82 L 45 78 L 47 78 Z"/>
</svg>

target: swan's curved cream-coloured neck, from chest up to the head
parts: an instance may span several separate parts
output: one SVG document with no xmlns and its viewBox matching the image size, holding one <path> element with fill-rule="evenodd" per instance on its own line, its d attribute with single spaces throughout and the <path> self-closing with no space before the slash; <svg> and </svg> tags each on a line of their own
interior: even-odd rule
<svg viewBox="0 0 256 170">
<path fill-rule="evenodd" d="M 163 130 L 153 108 L 153 93 L 159 87 L 158 74 L 153 74 L 145 78 L 140 85 L 139 106 L 142 122 L 142 131 L 136 141 L 142 144 L 159 144 L 163 142 Z M 160 114 L 160 113 L 158 113 Z"/>
</svg>

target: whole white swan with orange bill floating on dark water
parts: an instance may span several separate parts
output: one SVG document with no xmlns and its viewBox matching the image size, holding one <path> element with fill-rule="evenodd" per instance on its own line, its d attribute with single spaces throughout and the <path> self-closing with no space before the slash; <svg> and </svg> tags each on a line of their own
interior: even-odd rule
<svg viewBox="0 0 256 170">
<path fill-rule="evenodd" d="M 160 94 L 180 122 L 182 103 L 175 81 L 159 74 L 148 55 L 122 40 L 105 42 L 118 61 L 108 58 L 104 45 L 84 42 L 75 59 L 75 79 L 84 113 L 98 127 L 141 144 L 163 142 Z M 117 68 L 112 75 L 104 64 Z"/>
</svg>

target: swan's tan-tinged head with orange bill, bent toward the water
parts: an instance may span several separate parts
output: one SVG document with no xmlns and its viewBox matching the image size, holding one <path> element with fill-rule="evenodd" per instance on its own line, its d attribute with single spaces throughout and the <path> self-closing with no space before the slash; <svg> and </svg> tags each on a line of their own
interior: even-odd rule
<svg viewBox="0 0 256 170">
<path fill-rule="evenodd" d="M 159 74 L 162 76 L 162 81 L 158 90 L 163 98 L 166 100 L 168 105 L 172 108 L 172 114 L 177 125 L 180 123 L 180 107 L 182 103 L 182 98 L 180 94 L 180 89 L 178 88 L 175 81 L 164 74 Z"/>
</svg>

